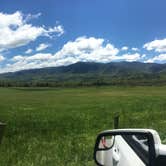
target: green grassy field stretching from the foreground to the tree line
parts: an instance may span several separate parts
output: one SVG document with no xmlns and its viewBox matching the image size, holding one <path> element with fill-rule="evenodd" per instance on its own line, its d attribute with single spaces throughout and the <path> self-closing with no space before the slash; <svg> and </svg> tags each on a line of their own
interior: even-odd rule
<svg viewBox="0 0 166 166">
<path fill-rule="evenodd" d="M 90 166 L 98 132 L 156 129 L 166 142 L 166 87 L 1 88 L 1 166 Z"/>
</svg>

